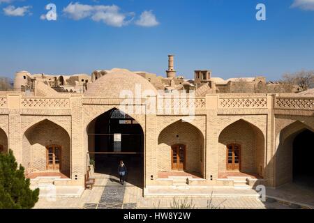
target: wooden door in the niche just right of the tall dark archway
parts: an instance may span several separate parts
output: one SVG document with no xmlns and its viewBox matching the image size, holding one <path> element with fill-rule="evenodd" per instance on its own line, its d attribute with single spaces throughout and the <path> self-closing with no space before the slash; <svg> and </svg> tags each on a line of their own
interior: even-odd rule
<svg viewBox="0 0 314 223">
<path fill-rule="evenodd" d="M 172 170 L 182 171 L 186 168 L 186 146 L 174 145 L 171 148 Z"/>
</svg>

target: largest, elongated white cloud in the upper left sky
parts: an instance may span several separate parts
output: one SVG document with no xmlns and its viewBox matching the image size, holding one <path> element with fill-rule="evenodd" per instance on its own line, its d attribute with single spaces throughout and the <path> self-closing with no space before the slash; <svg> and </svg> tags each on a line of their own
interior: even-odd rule
<svg viewBox="0 0 314 223">
<path fill-rule="evenodd" d="M 118 6 L 91 6 L 78 2 L 70 3 L 63 8 L 63 13 L 73 20 L 82 20 L 89 17 L 96 22 L 104 22 L 109 26 L 124 26 L 133 20 L 134 13 L 121 13 Z"/>
</svg>

